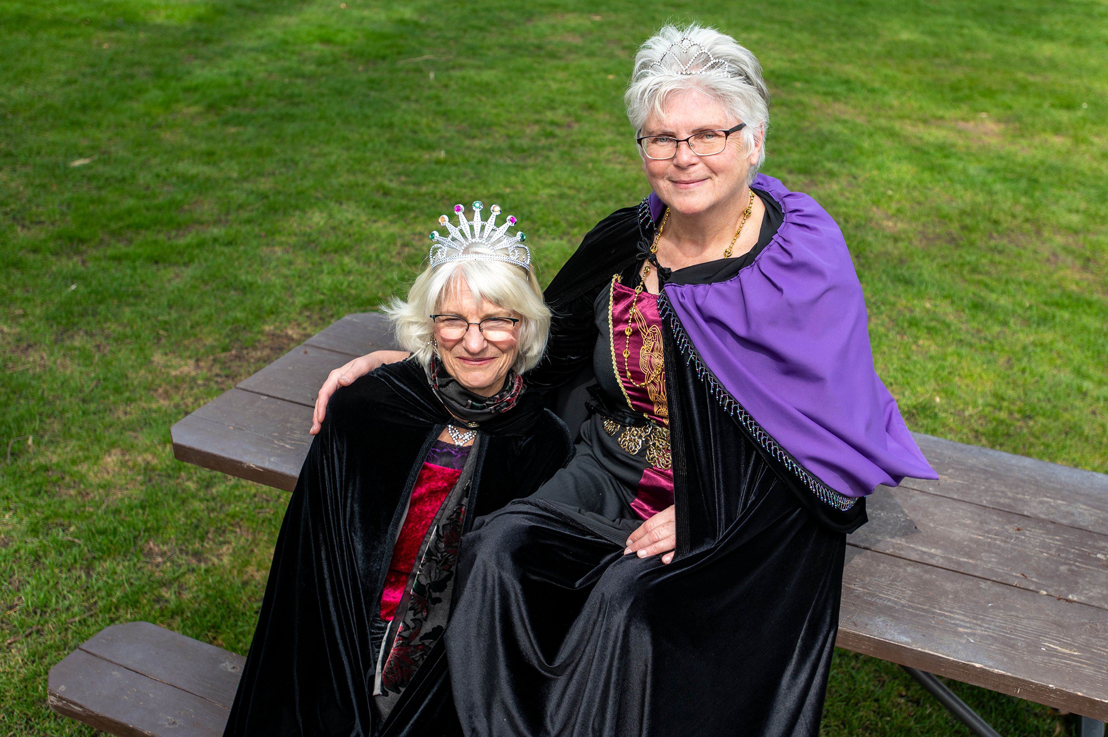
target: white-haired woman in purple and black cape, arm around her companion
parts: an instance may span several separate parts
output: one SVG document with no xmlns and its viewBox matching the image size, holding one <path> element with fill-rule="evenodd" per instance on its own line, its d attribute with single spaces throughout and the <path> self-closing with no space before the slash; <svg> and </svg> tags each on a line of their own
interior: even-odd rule
<svg viewBox="0 0 1108 737">
<path fill-rule="evenodd" d="M 459 557 L 445 639 L 469 737 L 819 731 L 845 533 L 878 484 L 936 477 L 874 370 L 838 225 L 758 173 L 768 99 L 711 29 L 666 27 L 636 57 L 653 192 L 554 277 L 527 375 L 576 453 Z M 336 371 L 317 414 L 393 358 Z"/>
</svg>

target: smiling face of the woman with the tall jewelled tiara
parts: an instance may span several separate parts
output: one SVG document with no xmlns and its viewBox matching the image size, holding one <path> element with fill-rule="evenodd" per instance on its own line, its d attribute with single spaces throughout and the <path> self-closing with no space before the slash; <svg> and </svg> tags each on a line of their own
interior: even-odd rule
<svg viewBox="0 0 1108 737">
<path fill-rule="evenodd" d="M 520 317 L 488 299 L 475 304 L 464 278 L 459 277 L 455 284 L 456 288 L 447 290 L 437 314 L 456 315 L 466 323 L 480 323 L 490 317 Z M 504 378 L 520 355 L 517 335 L 503 340 L 489 340 L 476 325 L 471 325 L 465 335 L 453 340 L 444 339 L 435 328 L 434 339 L 439 344 L 439 357 L 450 376 L 482 397 L 492 397 L 504 387 Z"/>
</svg>

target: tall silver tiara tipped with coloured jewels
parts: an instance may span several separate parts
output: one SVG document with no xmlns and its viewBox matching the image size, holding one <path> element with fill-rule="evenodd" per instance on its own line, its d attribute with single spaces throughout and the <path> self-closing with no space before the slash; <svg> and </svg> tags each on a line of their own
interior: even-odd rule
<svg viewBox="0 0 1108 737">
<path fill-rule="evenodd" d="M 445 215 L 439 217 L 439 225 L 445 225 L 450 235 L 443 238 L 438 231 L 431 233 L 431 266 L 462 260 L 490 260 L 515 264 L 531 270 L 531 249 L 523 245 L 525 235 L 516 232 L 509 235 L 507 228 L 515 225 L 515 216 L 509 215 L 507 222 L 496 227 L 496 216 L 500 205 L 492 206 L 492 215 L 481 222 L 481 201 L 473 203 L 473 221 L 465 219 L 465 208 L 454 205 L 458 215 L 455 227 Z M 473 249 L 479 249 L 474 253 Z"/>
</svg>

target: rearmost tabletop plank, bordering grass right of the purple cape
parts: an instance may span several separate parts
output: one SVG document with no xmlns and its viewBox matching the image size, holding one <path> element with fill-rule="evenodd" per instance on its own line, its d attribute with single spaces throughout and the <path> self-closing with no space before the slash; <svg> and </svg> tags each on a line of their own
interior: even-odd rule
<svg viewBox="0 0 1108 737">
<path fill-rule="evenodd" d="M 901 485 L 1108 534 L 1108 474 L 912 434 L 941 478 Z"/>
</svg>

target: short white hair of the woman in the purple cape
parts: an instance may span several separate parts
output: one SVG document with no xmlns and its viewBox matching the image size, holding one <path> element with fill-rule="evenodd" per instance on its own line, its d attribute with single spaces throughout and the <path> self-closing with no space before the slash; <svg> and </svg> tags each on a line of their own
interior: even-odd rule
<svg viewBox="0 0 1108 737">
<path fill-rule="evenodd" d="M 683 39 L 691 43 L 683 48 Z M 717 61 L 711 63 L 701 49 Z M 711 66 L 701 72 L 708 63 Z M 665 117 L 670 95 L 686 90 L 699 90 L 724 105 L 736 122 L 747 124 L 739 135 L 748 156 L 761 142 L 758 164 L 750 167 L 747 181 L 753 182 L 766 161 L 769 127 L 769 88 L 762 80 L 757 57 L 714 28 L 697 23 L 666 25 L 647 39 L 635 55 L 635 71 L 624 95 L 630 124 L 642 135 L 650 114 Z"/>
</svg>

